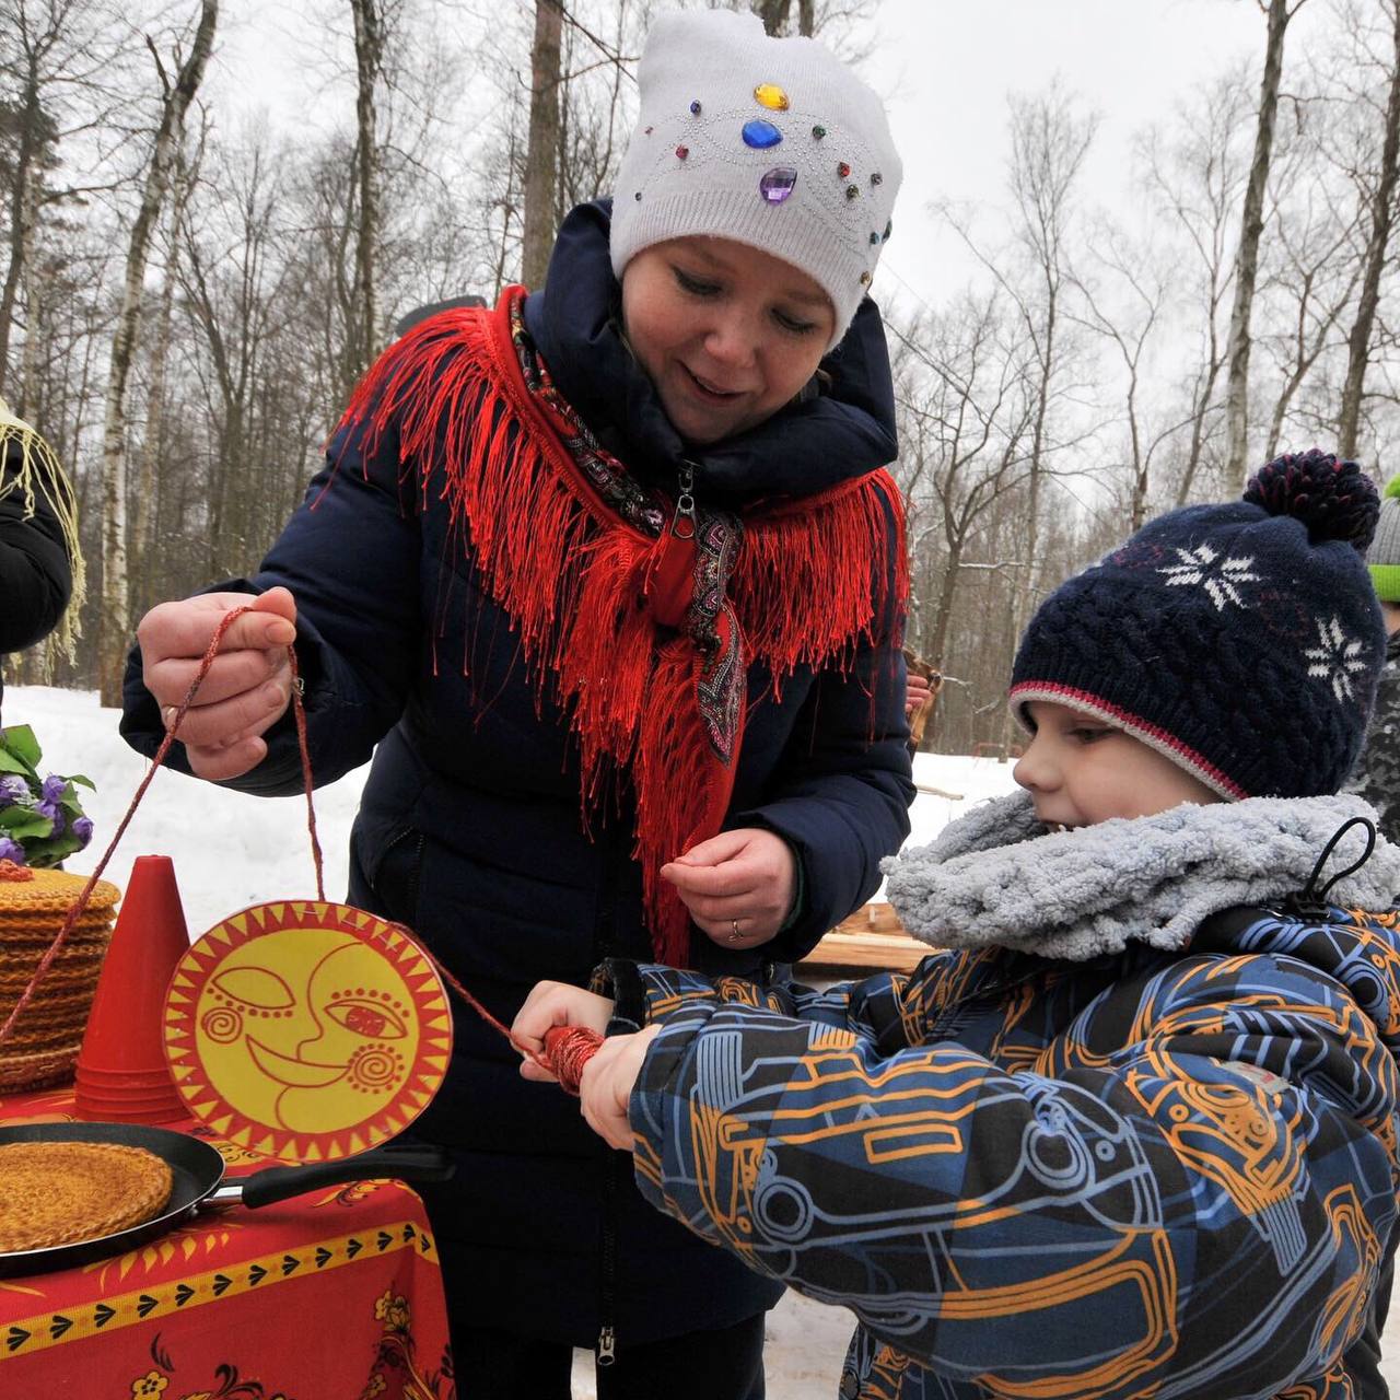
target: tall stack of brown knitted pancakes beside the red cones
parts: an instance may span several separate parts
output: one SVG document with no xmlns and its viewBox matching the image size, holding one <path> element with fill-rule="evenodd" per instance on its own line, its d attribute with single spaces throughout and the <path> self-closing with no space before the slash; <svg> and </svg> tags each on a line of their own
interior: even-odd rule
<svg viewBox="0 0 1400 1400">
<path fill-rule="evenodd" d="M 0 1025 L 59 937 L 84 885 L 81 875 L 45 869 L 34 871 L 34 879 L 0 881 Z M 59 956 L 0 1044 L 0 1092 L 42 1089 L 73 1078 L 120 895 L 106 881 L 92 886 Z"/>
</svg>

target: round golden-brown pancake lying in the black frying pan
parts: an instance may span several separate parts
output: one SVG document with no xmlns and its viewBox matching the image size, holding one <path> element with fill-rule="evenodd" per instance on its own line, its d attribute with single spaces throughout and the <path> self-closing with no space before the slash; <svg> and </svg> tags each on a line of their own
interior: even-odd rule
<svg viewBox="0 0 1400 1400">
<path fill-rule="evenodd" d="M 141 1225 L 169 1200 L 169 1166 L 119 1142 L 0 1147 L 0 1253 L 101 1239 Z"/>
</svg>

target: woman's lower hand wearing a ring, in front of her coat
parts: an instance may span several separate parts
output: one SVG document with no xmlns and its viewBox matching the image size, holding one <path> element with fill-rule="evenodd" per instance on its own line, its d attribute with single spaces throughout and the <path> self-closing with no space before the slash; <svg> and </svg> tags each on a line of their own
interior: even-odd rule
<svg viewBox="0 0 1400 1400">
<path fill-rule="evenodd" d="M 690 917 L 724 948 L 757 948 L 783 927 L 797 896 L 797 857 L 757 826 L 721 832 L 661 867 Z"/>
</svg>

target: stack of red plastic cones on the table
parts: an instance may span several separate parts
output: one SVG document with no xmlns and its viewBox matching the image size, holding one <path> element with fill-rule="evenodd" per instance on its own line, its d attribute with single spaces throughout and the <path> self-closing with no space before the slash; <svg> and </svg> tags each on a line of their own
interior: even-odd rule
<svg viewBox="0 0 1400 1400">
<path fill-rule="evenodd" d="M 140 1086 L 140 1120 L 151 1121 L 155 1105 L 147 1096 L 153 1092 L 161 1093 L 169 1117 L 183 1112 L 165 1064 L 161 1021 L 165 990 L 188 948 L 189 930 L 171 858 L 139 855 L 78 1051 L 78 1117 L 139 1121 L 134 1114 L 123 1120 L 120 1106 L 102 1095 L 101 1088 L 112 1085 L 113 1075 L 130 1075 L 132 1088 Z M 153 1091 L 153 1081 L 158 1091 Z"/>
</svg>

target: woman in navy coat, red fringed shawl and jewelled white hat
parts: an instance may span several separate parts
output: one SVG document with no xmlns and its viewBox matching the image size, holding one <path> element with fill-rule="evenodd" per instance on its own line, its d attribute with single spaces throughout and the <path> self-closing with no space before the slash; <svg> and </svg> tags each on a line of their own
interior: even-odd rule
<svg viewBox="0 0 1400 1400">
<path fill-rule="evenodd" d="M 357 391 L 246 581 L 154 609 L 123 732 L 161 738 L 214 626 L 183 762 L 295 791 L 286 645 L 329 781 L 378 743 L 350 902 L 505 1019 L 605 953 L 773 974 L 869 896 L 913 795 L 893 395 L 864 300 L 899 160 L 811 41 L 669 14 L 612 206 L 547 286 L 451 311 Z M 647 1211 L 624 1156 L 458 1018 L 416 1131 L 472 1396 L 763 1394 L 778 1289 Z"/>
</svg>

